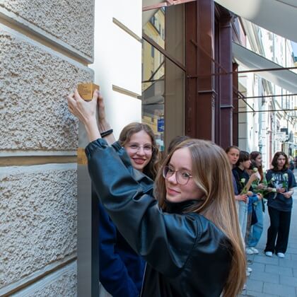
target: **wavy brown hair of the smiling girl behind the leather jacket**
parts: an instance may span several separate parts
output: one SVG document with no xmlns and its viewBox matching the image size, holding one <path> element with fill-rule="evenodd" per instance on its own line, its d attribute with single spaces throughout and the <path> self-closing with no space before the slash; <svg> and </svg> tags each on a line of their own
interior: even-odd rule
<svg viewBox="0 0 297 297">
<path fill-rule="evenodd" d="M 151 144 L 153 146 L 151 161 L 149 161 L 148 165 L 146 165 L 144 168 L 144 174 L 154 180 L 158 172 L 160 153 L 156 143 L 155 135 L 153 134 L 151 127 L 149 127 L 147 124 L 141 124 L 138 122 L 127 124 L 127 126 L 125 126 L 120 133 L 119 141 L 120 145 L 124 146 L 130 141 L 133 134 L 141 132 L 142 130 L 144 130 L 144 132 L 146 132 L 151 137 Z"/>
</svg>

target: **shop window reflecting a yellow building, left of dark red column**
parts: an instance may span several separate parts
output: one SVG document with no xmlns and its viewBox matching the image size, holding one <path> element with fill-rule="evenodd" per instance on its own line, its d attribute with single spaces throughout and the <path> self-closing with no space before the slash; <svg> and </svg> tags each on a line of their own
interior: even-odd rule
<svg viewBox="0 0 297 297">
<path fill-rule="evenodd" d="M 165 150 L 184 134 L 185 67 L 183 6 L 146 12 L 142 52 L 142 122 Z"/>
</svg>

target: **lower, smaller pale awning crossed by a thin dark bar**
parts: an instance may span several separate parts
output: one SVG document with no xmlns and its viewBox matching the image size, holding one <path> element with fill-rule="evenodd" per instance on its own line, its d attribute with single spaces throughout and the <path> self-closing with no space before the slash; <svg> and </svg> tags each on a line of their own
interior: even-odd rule
<svg viewBox="0 0 297 297">
<path fill-rule="evenodd" d="M 248 50 L 242 45 L 232 42 L 233 57 L 247 69 L 275 69 L 282 67 L 260 54 Z M 297 93 L 297 74 L 290 70 L 260 71 L 257 75 L 275 83 L 277 86 L 286 89 L 291 93 Z"/>
</svg>

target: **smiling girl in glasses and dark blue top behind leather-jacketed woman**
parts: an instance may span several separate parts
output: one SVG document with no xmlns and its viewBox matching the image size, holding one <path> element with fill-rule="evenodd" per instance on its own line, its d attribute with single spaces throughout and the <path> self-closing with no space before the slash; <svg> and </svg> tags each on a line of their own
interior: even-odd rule
<svg viewBox="0 0 297 297">
<path fill-rule="evenodd" d="M 115 137 L 106 119 L 102 96 L 98 98 L 98 127 L 103 136 L 106 135 L 104 139 L 107 143 L 113 144 Z M 141 177 L 139 173 L 144 173 L 154 180 L 158 168 L 158 148 L 151 127 L 138 122 L 128 124 L 120 132 L 115 146 L 123 146 L 127 151 L 134 177 Z M 100 197 L 100 192 L 98 194 Z M 113 297 L 139 296 L 145 261 L 130 247 L 100 202 L 99 254 L 99 276 L 104 289 Z M 100 296 L 106 295 L 104 289 L 100 289 Z"/>
</svg>

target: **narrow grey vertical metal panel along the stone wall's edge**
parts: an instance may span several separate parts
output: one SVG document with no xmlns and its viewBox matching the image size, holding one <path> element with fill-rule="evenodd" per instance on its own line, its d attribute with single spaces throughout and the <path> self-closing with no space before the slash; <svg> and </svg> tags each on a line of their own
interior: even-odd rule
<svg viewBox="0 0 297 297">
<path fill-rule="evenodd" d="M 85 148 L 88 139 L 81 124 L 78 134 L 78 146 Z M 78 297 L 97 297 L 99 296 L 98 199 L 92 192 L 86 164 L 78 164 L 77 175 L 77 291 Z"/>
</svg>

